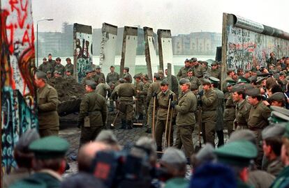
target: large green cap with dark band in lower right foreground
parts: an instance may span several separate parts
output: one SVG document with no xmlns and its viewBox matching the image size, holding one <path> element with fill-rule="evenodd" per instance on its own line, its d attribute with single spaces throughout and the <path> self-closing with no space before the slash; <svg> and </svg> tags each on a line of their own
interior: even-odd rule
<svg viewBox="0 0 289 188">
<path fill-rule="evenodd" d="M 257 157 L 258 150 L 250 141 L 239 140 L 226 143 L 214 152 L 219 162 L 236 166 L 249 166 L 251 160 Z"/>
</svg>

